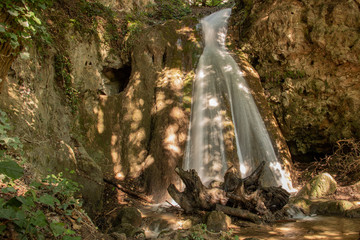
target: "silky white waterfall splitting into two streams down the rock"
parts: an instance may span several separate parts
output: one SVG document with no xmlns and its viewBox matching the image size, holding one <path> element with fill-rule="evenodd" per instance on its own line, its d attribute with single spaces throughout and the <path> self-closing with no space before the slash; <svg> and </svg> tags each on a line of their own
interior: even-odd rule
<svg viewBox="0 0 360 240">
<path fill-rule="evenodd" d="M 227 102 L 242 177 L 248 176 L 261 161 L 266 161 L 262 184 L 290 190 L 291 181 L 277 160 L 247 83 L 225 47 L 230 14 L 231 9 L 224 9 L 201 20 L 205 48 L 193 86 L 184 169 L 195 169 L 205 184 L 223 180 L 227 169 L 223 138 Z"/>
</svg>

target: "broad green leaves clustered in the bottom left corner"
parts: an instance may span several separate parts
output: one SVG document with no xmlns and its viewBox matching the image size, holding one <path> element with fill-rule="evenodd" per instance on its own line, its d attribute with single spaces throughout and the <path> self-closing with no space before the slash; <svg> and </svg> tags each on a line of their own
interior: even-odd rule
<svg viewBox="0 0 360 240">
<path fill-rule="evenodd" d="M 13 180 L 7 182 L 2 193 L 15 192 Z M 47 212 L 56 211 L 72 215 L 81 204 L 74 198 L 78 184 L 59 175 L 49 175 L 42 183 L 33 182 L 23 196 L 0 198 L 0 236 L 5 237 L 6 229 L 13 226 L 20 239 L 80 239 L 68 224 L 51 219 Z M 11 224 L 10 224 L 11 223 Z M 69 238 L 70 237 L 70 238 Z"/>
</svg>

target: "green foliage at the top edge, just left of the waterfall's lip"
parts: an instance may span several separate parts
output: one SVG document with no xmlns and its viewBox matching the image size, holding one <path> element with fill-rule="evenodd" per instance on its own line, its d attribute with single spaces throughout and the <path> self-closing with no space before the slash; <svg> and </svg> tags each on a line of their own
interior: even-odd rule
<svg viewBox="0 0 360 240">
<path fill-rule="evenodd" d="M 191 13 L 190 6 L 183 0 L 157 0 L 156 15 L 162 20 L 181 19 Z"/>
</svg>

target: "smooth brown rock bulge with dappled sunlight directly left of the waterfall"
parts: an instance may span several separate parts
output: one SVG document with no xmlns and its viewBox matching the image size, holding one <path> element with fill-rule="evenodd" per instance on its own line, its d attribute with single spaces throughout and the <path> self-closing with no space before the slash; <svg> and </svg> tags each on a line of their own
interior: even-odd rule
<svg viewBox="0 0 360 240">
<path fill-rule="evenodd" d="M 155 200 L 165 197 L 182 163 L 189 117 L 185 79 L 201 51 L 196 23 L 142 29 L 127 87 L 113 96 L 89 94 L 81 110 L 88 147 L 107 159 L 106 176 L 141 186 Z"/>
</svg>

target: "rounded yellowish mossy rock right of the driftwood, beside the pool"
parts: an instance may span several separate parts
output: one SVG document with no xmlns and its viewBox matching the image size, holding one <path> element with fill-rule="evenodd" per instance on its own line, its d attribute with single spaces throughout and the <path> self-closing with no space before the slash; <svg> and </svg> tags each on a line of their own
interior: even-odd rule
<svg viewBox="0 0 360 240">
<path fill-rule="evenodd" d="M 296 195 L 296 198 L 316 199 L 335 193 L 337 183 L 328 173 L 321 173 L 307 183 Z"/>
</svg>

